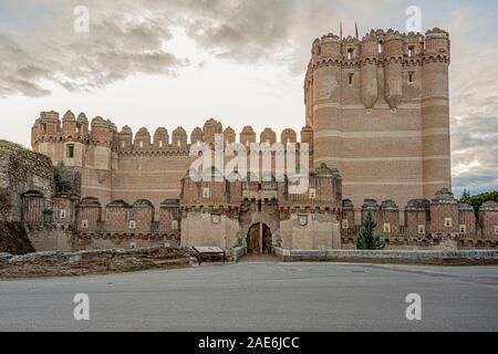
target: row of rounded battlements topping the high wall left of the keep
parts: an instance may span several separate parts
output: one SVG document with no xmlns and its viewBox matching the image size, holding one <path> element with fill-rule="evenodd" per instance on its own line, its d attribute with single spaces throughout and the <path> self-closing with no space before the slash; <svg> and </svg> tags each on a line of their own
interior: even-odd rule
<svg viewBox="0 0 498 354">
<path fill-rule="evenodd" d="M 69 143 L 80 142 L 82 144 L 107 146 L 116 152 L 144 152 L 144 150 L 187 150 L 193 144 L 207 143 L 215 145 L 215 136 L 224 136 L 224 144 L 240 143 L 247 147 L 251 143 L 282 143 L 297 144 L 298 134 L 291 128 L 284 129 L 280 136 L 267 127 L 259 138 L 251 126 L 246 126 L 239 134 L 232 127 L 224 129 L 222 124 L 214 118 L 206 122 L 203 128 L 196 127 L 190 135 L 179 126 L 169 135 L 166 127 L 158 127 L 151 134 L 146 127 L 142 127 L 133 133 L 129 126 L 124 126 L 121 131 L 111 119 L 96 116 L 89 124 L 84 113 L 80 113 L 77 118 L 74 113 L 68 111 L 62 119 L 58 112 L 41 112 L 40 117 L 32 127 L 32 146 L 37 149 L 40 143 Z M 312 134 L 312 132 L 311 132 Z M 311 142 L 310 128 L 303 128 L 303 143 Z"/>
</svg>

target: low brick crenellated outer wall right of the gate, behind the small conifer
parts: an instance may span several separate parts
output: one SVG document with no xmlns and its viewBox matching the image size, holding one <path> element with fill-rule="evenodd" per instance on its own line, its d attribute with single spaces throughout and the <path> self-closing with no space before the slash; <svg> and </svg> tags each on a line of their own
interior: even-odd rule
<svg viewBox="0 0 498 354">
<path fill-rule="evenodd" d="M 449 242 L 458 248 L 498 247 L 498 204 L 488 201 L 478 211 L 458 201 L 454 195 L 442 189 L 429 201 L 409 200 L 400 209 L 393 200 L 381 205 L 366 199 L 361 210 L 351 200 L 345 199 L 342 207 L 342 239 L 345 244 L 354 244 L 361 222 L 367 212 L 372 212 L 378 235 L 388 247 L 414 249 L 434 248 Z"/>
</svg>

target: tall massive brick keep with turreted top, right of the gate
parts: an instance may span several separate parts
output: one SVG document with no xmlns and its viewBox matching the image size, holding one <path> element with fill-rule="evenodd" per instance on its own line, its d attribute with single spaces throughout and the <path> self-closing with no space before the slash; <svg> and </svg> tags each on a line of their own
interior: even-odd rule
<svg viewBox="0 0 498 354">
<path fill-rule="evenodd" d="M 450 189 L 449 53 L 439 29 L 314 41 L 304 82 L 314 166 L 338 168 L 354 205 Z"/>
</svg>

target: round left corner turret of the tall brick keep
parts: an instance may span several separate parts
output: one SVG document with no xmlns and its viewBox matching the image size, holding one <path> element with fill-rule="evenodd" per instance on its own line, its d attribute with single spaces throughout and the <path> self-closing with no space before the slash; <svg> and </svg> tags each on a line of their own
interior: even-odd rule
<svg viewBox="0 0 498 354">
<path fill-rule="evenodd" d="M 342 149 L 341 40 L 329 34 L 313 43 L 313 147 L 314 166 L 339 168 Z"/>
</svg>

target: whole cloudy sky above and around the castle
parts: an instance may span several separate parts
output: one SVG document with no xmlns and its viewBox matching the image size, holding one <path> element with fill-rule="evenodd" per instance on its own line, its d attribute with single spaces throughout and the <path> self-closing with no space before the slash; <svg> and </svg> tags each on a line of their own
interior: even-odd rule
<svg viewBox="0 0 498 354">
<path fill-rule="evenodd" d="M 76 33 L 74 9 L 90 10 Z M 0 0 L 0 138 L 29 145 L 40 111 L 102 115 L 134 132 L 187 131 L 209 117 L 237 132 L 297 131 L 314 38 L 405 29 L 452 35 L 457 196 L 498 189 L 498 4 L 402 0 Z"/>
</svg>

